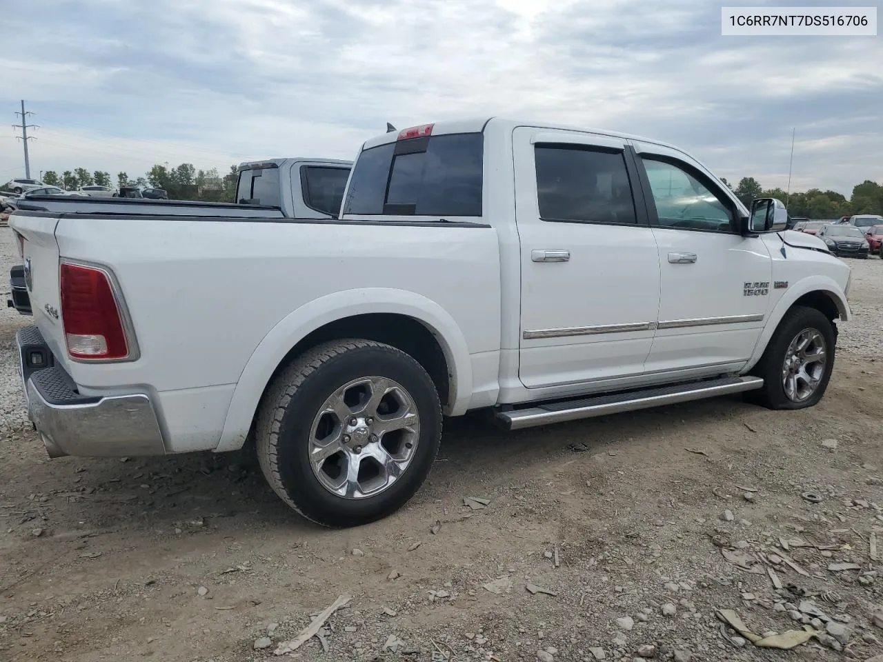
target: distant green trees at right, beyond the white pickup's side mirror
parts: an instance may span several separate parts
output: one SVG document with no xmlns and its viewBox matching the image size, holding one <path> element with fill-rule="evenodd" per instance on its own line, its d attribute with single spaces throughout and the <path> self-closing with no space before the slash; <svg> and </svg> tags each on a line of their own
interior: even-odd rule
<svg viewBox="0 0 883 662">
<path fill-rule="evenodd" d="M 751 205 L 752 199 L 781 199 L 788 207 L 791 217 L 834 219 L 853 214 L 879 214 L 883 216 L 883 185 L 870 179 L 865 179 L 861 184 L 853 186 L 852 195 L 849 198 L 836 191 L 822 191 L 820 189 L 790 194 L 782 191 L 781 188 L 765 189 L 754 177 L 743 177 L 735 189 L 726 179 L 723 182 L 736 193 L 736 197 L 742 200 L 746 206 Z"/>
</svg>

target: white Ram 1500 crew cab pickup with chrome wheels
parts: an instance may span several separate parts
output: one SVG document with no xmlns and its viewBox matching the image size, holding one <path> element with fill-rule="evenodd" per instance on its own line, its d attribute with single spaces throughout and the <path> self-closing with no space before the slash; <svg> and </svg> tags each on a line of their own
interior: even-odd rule
<svg viewBox="0 0 883 662">
<path fill-rule="evenodd" d="M 611 132 L 387 133 L 334 220 L 45 205 L 11 227 L 49 455 L 253 439 L 275 492 L 331 526 L 409 500 L 442 415 L 517 429 L 743 391 L 809 407 L 849 318 L 849 268 L 784 231 L 780 202 L 749 212 L 690 154 Z"/>
</svg>

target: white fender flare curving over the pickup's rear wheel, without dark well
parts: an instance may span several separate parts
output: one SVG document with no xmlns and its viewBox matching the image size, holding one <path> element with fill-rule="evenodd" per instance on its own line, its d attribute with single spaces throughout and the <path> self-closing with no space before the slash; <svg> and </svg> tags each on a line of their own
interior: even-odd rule
<svg viewBox="0 0 883 662">
<path fill-rule="evenodd" d="M 260 341 L 239 375 L 215 451 L 236 450 L 245 443 L 260 396 L 292 347 L 330 322 L 370 313 L 406 315 L 426 326 L 439 341 L 448 362 L 450 392 L 446 413 L 462 414 L 472 395 L 472 363 L 457 321 L 442 306 L 408 290 L 343 290 L 300 306 Z"/>
</svg>

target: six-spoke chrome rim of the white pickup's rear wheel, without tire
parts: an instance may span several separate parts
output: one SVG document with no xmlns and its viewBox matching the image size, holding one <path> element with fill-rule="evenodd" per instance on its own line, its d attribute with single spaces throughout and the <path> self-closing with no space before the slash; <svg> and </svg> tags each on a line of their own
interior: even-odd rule
<svg viewBox="0 0 883 662">
<path fill-rule="evenodd" d="M 364 499 L 383 492 L 411 463 L 420 418 L 393 380 L 361 377 L 338 388 L 310 428 L 310 465 L 328 492 Z"/>
</svg>

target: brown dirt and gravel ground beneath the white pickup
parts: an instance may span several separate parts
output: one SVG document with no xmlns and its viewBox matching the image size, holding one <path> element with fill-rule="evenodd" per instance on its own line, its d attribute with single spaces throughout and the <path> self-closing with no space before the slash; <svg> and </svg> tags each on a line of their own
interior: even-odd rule
<svg viewBox="0 0 883 662">
<path fill-rule="evenodd" d="M 415 499 L 343 531 L 299 520 L 245 453 L 49 461 L 14 384 L 27 320 L 0 313 L 0 659 L 271 659 L 340 595 L 328 652 L 313 637 L 294 658 L 881 654 L 883 262 L 851 264 L 857 317 L 818 407 L 723 398 L 522 433 L 449 421 Z M 803 609 L 829 634 L 758 648 L 716 609 L 757 635 L 802 628 Z"/>
</svg>

